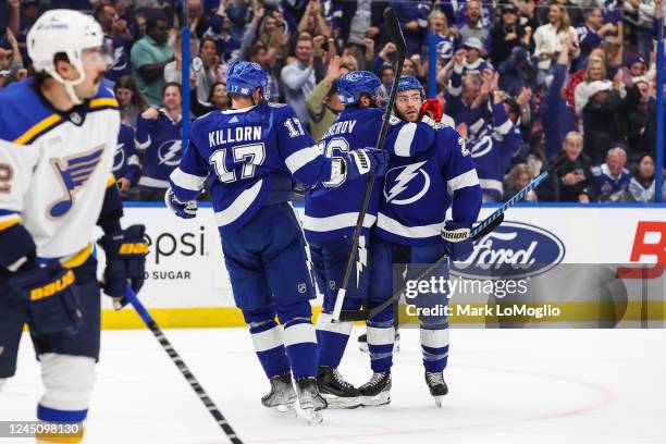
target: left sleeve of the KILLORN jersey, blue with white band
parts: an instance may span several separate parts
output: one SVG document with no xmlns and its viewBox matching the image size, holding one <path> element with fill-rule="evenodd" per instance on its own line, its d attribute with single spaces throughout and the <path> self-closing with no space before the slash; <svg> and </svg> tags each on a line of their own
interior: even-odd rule
<svg viewBox="0 0 666 444">
<path fill-rule="evenodd" d="M 195 125 L 193 125 L 194 134 Z M 182 202 L 196 199 L 208 178 L 208 164 L 199 153 L 193 138 L 183 151 L 180 165 L 171 172 L 169 184 L 176 199 Z"/>
</svg>

